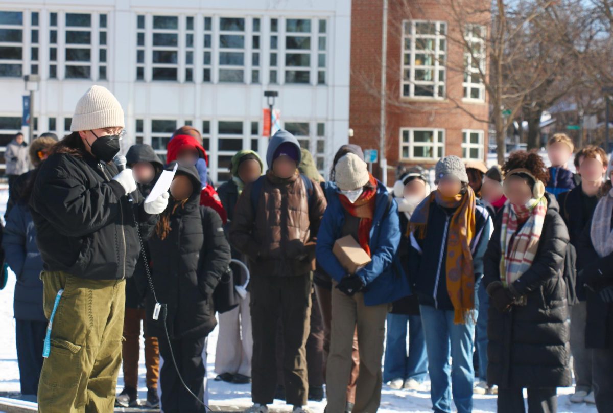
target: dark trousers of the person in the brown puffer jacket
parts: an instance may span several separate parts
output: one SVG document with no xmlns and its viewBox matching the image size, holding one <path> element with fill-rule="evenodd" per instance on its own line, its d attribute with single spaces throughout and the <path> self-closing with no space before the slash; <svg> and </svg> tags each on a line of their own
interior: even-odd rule
<svg viewBox="0 0 613 413">
<path fill-rule="evenodd" d="M 307 350 L 310 332 L 311 276 L 265 276 L 253 274 L 251 324 L 251 398 L 253 403 L 271 404 L 277 384 L 276 332 L 283 324 L 283 376 L 287 404 L 307 404 Z"/>
</svg>

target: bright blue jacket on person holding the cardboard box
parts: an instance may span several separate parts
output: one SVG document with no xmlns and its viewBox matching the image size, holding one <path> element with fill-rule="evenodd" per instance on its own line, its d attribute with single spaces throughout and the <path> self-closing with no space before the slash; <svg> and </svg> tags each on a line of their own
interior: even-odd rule
<svg viewBox="0 0 613 413">
<path fill-rule="evenodd" d="M 328 207 L 317 236 L 317 262 L 333 279 L 340 282 L 347 271 L 332 253 L 332 247 L 341 237 L 345 224 L 345 210 L 338 199 L 337 186 L 334 183 L 326 185 L 326 198 Z M 398 206 L 396 201 L 392 199 L 390 204 L 389 200 L 386 187 L 378 182 L 375 215 L 368 243 L 372 261 L 357 271 L 357 276 L 366 285 L 364 304 L 367 306 L 392 303 L 411 293 L 408 279 L 397 255 L 400 243 Z"/>
</svg>

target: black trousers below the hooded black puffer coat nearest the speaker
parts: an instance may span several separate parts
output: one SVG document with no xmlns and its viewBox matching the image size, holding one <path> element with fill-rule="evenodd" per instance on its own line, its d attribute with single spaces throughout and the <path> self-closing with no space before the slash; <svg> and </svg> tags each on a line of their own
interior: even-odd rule
<svg viewBox="0 0 613 413">
<path fill-rule="evenodd" d="M 194 395 L 204 402 L 204 378 L 207 374 L 202 353 L 207 338 L 178 339 L 172 341 L 172 351 L 177 361 L 183 381 Z M 159 372 L 159 385 L 162 390 L 162 410 L 164 413 L 206 413 L 205 407 L 190 395 L 177 376 L 177 370 L 170 355 L 166 338 L 159 340 L 159 354 L 164 364 Z"/>
</svg>

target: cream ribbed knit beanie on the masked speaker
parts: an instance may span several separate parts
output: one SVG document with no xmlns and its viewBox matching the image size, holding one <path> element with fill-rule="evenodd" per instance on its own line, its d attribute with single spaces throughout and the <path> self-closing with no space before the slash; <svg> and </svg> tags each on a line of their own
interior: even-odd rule
<svg viewBox="0 0 613 413">
<path fill-rule="evenodd" d="M 94 85 L 78 99 L 70 131 L 89 131 L 113 126 L 125 127 L 123 109 L 107 88 Z"/>
</svg>

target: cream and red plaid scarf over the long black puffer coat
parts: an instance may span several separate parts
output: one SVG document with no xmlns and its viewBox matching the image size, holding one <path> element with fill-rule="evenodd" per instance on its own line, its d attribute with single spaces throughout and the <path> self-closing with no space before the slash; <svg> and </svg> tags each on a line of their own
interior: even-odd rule
<svg viewBox="0 0 613 413">
<path fill-rule="evenodd" d="M 547 199 L 532 198 L 522 206 L 506 203 L 500 230 L 500 279 L 512 284 L 532 265 L 543 232 L 547 213 Z M 517 231 L 519 223 L 524 226 Z"/>
</svg>

